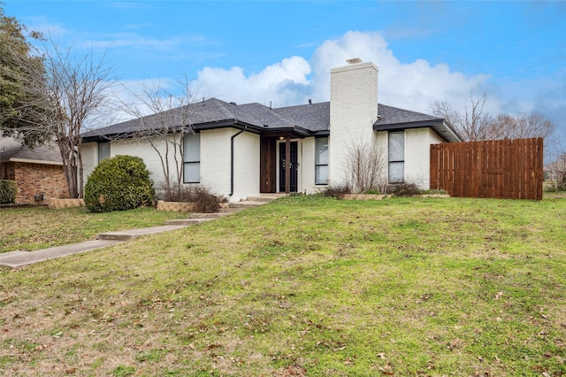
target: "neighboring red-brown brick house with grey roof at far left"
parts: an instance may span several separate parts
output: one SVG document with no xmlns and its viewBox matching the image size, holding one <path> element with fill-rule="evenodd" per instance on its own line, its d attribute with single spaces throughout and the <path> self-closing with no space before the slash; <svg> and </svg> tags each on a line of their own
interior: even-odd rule
<svg viewBox="0 0 566 377">
<path fill-rule="evenodd" d="M 0 138 L 0 179 L 16 181 L 19 204 L 69 196 L 61 155 L 52 145 L 31 150 L 11 137 Z"/>
</svg>

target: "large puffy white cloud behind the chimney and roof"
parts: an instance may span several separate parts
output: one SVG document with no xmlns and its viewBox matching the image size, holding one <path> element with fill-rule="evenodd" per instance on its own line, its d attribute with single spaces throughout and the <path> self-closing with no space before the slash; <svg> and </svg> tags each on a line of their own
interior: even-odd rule
<svg viewBox="0 0 566 377">
<path fill-rule="evenodd" d="M 430 65 L 422 59 L 402 63 L 382 35 L 362 32 L 348 32 L 324 42 L 315 50 L 310 63 L 300 57 L 286 58 L 249 76 L 241 67 L 207 67 L 198 73 L 198 78 L 210 96 L 238 103 L 272 101 L 285 106 L 303 104 L 308 98 L 323 102 L 330 98 L 330 70 L 346 65 L 348 58 L 378 65 L 382 104 L 427 112 L 429 102 L 435 99 L 463 102 L 470 93 L 486 90 L 485 74 L 466 76 L 450 71 L 447 65 Z"/>
</svg>

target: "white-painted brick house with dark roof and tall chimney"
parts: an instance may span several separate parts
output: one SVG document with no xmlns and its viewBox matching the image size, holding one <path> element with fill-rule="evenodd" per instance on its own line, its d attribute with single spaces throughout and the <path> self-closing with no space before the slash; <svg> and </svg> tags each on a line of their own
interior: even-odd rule
<svg viewBox="0 0 566 377">
<path fill-rule="evenodd" d="M 127 154 L 143 158 L 156 188 L 162 187 L 161 161 L 136 133 L 142 123 L 157 128 L 164 116 L 190 113 L 195 134 L 184 138 L 182 181 L 203 184 L 230 201 L 343 184 L 348 151 L 359 142 L 378 146 L 386 184 L 430 188 L 430 145 L 462 141 L 455 130 L 445 119 L 378 104 L 378 68 L 372 63 L 334 68 L 330 75 L 330 102 L 272 109 L 211 98 L 88 132 L 82 135 L 84 181 L 102 158 Z"/>
</svg>

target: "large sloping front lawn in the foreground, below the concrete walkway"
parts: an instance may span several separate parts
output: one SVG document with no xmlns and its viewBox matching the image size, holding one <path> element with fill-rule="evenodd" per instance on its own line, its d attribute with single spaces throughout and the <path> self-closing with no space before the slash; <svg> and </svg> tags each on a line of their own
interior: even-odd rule
<svg viewBox="0 0 566 377">
<path fill-rule="evenodd" d="M 564 199 L 291 196 L 4 270 L 0 374 L 563 375 L 565 224 Z"/>
</svg>

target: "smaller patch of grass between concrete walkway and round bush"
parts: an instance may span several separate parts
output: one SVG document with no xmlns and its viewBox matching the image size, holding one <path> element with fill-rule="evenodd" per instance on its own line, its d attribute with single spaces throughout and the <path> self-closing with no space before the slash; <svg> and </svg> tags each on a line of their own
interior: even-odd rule
<svg viewBox="0 0 566 377">
<path fill-rule="evenodd" d="M 138 208 L 134 211 L 92 213 L 84 208 L 50 210 L 38 208 L 0 209 L 0 253 L 40 250 L 83 242 L 103 232 L 164 225 L 168 219 L 186 214 Z"/>
</svg>

